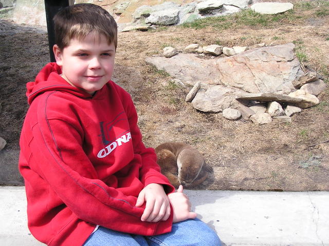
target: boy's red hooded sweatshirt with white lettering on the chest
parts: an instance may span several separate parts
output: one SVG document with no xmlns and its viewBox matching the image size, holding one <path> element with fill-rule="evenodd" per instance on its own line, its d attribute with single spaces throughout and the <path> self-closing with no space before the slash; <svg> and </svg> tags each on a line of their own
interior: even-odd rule
<svg viewBox="0 0 329 246">
<path fill-rule="evenodd" d="M 28 226 L 48 245 L 80 246 L 96 224 L 125 233 L 171 231 L 167 221 L 140 220 L 139 192 L 160 183 L 153 149 L 145 148 L 129 93 L 108 83 L 94 95 L 69 85 L 49 63 L 27 84 L 30 108 L 21 139 Z"/>
</svg>

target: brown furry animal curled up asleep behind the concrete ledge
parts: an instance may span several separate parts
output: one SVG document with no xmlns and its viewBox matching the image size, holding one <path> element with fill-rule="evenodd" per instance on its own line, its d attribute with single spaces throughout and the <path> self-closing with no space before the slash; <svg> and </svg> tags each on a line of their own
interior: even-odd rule
<svg viewBox="0 0 329 246">
<path fill-rule="evenodd" d="M 212 172 L 200 152 L 183 142 L 166 142 L 155 148 L 161 173 L 175 188 L 200 185 Z"/>
</svg>

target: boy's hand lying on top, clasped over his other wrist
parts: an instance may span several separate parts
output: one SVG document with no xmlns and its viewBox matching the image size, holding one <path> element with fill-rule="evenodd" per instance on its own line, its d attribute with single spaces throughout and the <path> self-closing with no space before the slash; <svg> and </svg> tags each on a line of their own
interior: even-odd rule
<svg viewBox="0 0 329 246">
<path fill-rule="evenodd" d="M 145 205 L 142 221 L 158 222 L 167 220 L 170 216 L 170 203 L 162 185 L 150 183 L 138 195 L 136 207 Z"/>
</svg>

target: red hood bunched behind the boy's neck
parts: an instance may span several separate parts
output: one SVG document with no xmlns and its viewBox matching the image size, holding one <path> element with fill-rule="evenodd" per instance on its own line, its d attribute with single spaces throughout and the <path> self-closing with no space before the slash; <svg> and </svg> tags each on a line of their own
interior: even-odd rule
<svg viewBox="0 0 329 246">
<path fill-rule="evenodd" d="M 31 105 L 34 98 L 46 91 L 65 91 L 82 98 L 92 98 L 93 95 L 74 87 L 60 75 L 62 69 L 56 63 L 48 63 L 35 77 L 35 81 L 26 84 L 27 101 Z"/>
</svg>

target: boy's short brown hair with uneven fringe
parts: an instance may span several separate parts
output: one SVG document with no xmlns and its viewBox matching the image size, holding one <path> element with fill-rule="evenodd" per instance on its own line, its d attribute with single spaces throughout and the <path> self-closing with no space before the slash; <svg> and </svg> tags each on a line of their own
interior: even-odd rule
<svg viewBox="0 0 329 246">
<path fill-rule="evenodd" d="M 63 50 L 72 38 L 81 39 L 89 33 L 103 34 L 108 44 L 117 48 L 118 27 L 113 16 L 94 4 L 76 4 L 61 9 L 54 17 L 56 44 Z"/>
</svg>

